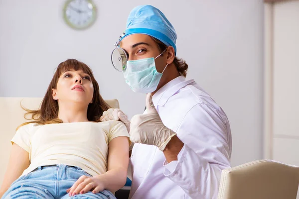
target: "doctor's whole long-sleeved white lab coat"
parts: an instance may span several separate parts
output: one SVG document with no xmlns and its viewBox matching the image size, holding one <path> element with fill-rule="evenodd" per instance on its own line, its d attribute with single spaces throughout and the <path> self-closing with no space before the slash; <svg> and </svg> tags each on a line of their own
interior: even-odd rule
<svg viewBox="0 0 299 199">
<path fill-rule="evenodd" d="M 165 126 L 184 146 L 167 164 L 156 147 L 135 144 L 130 199 L 217 199 L 221 171 L 230 167 L 229 121 L 194 80 L 177 77 L 152 97 Z"/>
</svg>

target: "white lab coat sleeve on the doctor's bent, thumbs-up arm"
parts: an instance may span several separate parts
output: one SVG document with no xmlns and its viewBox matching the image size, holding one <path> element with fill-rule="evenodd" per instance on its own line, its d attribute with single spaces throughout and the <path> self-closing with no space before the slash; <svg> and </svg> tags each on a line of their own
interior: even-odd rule
<svg viewBox="0 0 299 199">
<path fill-rule="evenodd" d="M 174 164 L 165 160 L 164 175 L 192 199 L 217 199 L 221 171 L 230 167 L 231 132 L 225 113 L 196 104 L 176 133 L 184 146 Z"/>
</svg>

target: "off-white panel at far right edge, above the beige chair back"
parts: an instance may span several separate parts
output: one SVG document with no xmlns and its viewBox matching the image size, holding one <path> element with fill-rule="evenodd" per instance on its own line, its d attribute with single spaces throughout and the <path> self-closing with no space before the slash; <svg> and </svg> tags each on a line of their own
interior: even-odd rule
<svg viewBox="0 0 299 199">
<path fill-rule="evenodd" d="M 299 165 L 299 0 L 273 5 L 273 159 Z M 299 193 L 298 193 L 299 199 Z"/>
</svg>

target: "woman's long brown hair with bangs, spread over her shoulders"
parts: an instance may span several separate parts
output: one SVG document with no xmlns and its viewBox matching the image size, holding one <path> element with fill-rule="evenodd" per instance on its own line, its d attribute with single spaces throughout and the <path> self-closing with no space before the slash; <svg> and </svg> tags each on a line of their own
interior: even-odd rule
<svg viewBox="0 0 299 199">
<path fill-rule="evenodd" d="M 110 106 L 101 97 L 99 85 L 94 78 L 92 70 L 83 62 L 75 59 L 68 59 L 58 65 L 56 72 L 50 82 L 50 85 L 48 86 L 47 92 L 43 100 L 41 101 L 39 109 L 30 110 L 21 106 L 25 111 L 27 111 L 24 115 L 25 119 L 31 121 L 25 122 L 20 126 L 28 123 L 37 123 L 41 125 L 50 123 L 62 123 L 62 120 L 58 118 L 58 101 L 53 99 L 52 89 L 56 89 L 59 77 L 64 72 L 70 70 L 82 70 L 84 73 L 90 76 L 92 85 L 94 87 L 94 93 L 92 103 L 90 103 L 87 108 L 87 119 L 89 121 L 100 122 L 100 117 L 102 116 L 103 112 L 105 110 L 108 110 Z M 26 117 L 27 115 L 30 115 L 29 118 Z M 18 126 L 17 129 L 20 126 Z"/>
</svg>

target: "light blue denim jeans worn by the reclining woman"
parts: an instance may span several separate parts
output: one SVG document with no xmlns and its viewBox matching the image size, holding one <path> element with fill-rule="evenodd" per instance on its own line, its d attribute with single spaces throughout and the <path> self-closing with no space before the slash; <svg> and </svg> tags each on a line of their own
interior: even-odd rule
<svg viewBox="0 0 299 199">
<path fill-rule="evenodd" d="M 82 175 L 91 176 L 79 167 L 66 165 L 38 167 L 14 181 L 2 199 L 116 199 L 107 190 L 98 194 L 87 192 L 69 197 L 66 190 Z"/>
</svg>

